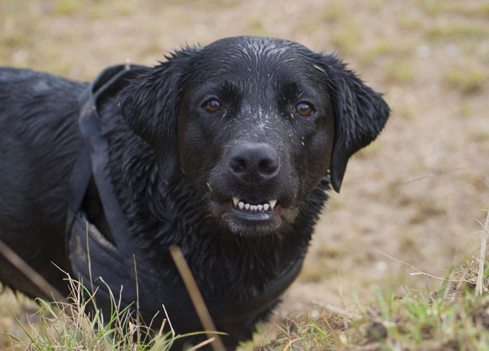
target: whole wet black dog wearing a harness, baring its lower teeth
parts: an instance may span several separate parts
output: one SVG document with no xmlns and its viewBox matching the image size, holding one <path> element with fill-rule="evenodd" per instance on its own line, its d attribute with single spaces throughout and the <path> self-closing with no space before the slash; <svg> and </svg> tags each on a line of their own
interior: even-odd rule
<svg viewBox="0 0 489 351">
<path fill-rule="evenodd" d="M 0 83 L 0 239 L 67 293 L 52 263 L 87 279 L 88 221 L 94 278 L 125 284 L 131 303 L 134 254 L 144 319 L 165 304 L 182 333 L 202 327 L 178 245 L 229 349 L 298 274 L 325 191 L 389 115 L 336 57 L 270 38 L 187 47 L 90 85 L 13 68 Z M 44 295 L 0 265 L 5 285 Z"/>
</svg>

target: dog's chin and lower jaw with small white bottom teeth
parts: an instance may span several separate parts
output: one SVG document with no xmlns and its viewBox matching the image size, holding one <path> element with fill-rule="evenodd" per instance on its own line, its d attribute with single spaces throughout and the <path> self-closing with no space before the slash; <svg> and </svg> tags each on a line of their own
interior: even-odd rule
<svg viewBox="0 0 489 351">
<path fill-rule="evenodd" d="M 283 208 L 279 203 L 274 206 L 263 204 L 240 205 L 233 201 L 210 201 L 212 215 L 233 234 L 242 237 L 264 237 L 278 235 L 297 215 L 295 208 Z M 249 205 L 249 206 L 248 206 Z"/>
</svg>

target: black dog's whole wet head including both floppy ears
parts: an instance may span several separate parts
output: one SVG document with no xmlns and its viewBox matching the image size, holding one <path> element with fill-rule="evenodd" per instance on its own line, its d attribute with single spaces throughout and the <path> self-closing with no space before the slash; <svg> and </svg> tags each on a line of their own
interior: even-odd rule
<svg viewBox="0 0 489 351">
<path fill-rule="evenodd" d="M 389 108 L 334 56 L 236 37 L 177 51 L 134 80 L 121 111 L 167 182 L 185 176 L 232 232 L 291 223 L 383 128 Z"/>
</svg>

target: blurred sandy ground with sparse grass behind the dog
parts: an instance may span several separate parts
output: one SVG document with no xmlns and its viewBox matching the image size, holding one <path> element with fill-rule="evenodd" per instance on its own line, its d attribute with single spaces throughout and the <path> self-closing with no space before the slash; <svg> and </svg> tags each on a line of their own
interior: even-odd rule
<svg viewBox="0 0 489 351">
<path fill-rule="evenodd" d="M 470 261 L 489 207 L 488 1 L 0 0 L 0 65 L 76 80 L 237 35 L 336 52 L 392 109 L 378 140 L 350 160 L 341 194 L 331 192 L 276 321 L 351 308 L 353 285 L 367 304 L 376 288 L 402 296 L 400 282 L 440 283 L 382 252 L 439 277 Z M 6 289 L 0 300 L 36 319 L 25 297 Z M 0 330 L 22 335 L 3 303 Z M 0 349 L 11 344 L 0 335 Z"/>
</svg>

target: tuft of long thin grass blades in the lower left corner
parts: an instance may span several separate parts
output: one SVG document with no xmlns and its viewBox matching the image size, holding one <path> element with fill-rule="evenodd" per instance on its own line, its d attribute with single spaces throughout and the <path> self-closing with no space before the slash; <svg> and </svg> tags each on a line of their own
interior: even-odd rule
<svg viewBox="0 0 489 351">
<path fill-rule="evenodd" d="M 130 311 L 129 306 L 120 307 L 120 302 L 116 300 L 112 291 L 112 313 L 110 316 L 104 316 L 102 311 L 97 309 L 96 291 L 90 293 L 82 282 L 69 276 L 67 281 L 71 291 L 67 302 L 36 299 L 39 304 L 36 313 L 39 323 L 35 326 L 22 323 L 3 302 L 27 336 L 27 341 L 24 341 L 16 335 L 3 332 L 15 340 L 12 350 L 166 351 L 170 350 L 178 339 L 204 333 L 176 335 L 168 315 L 156 330 L 151 324 L 145 326 L 139 322 L 137 316 L 134 317 L 135 313 Z M 170 330 L 164 331 L 166 329 Z M 196 350 L 212 341 L 213 338 L 208 339 L 189 350 Z"/>
</svg>

